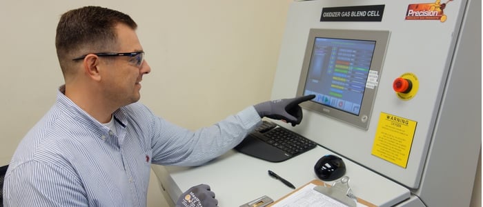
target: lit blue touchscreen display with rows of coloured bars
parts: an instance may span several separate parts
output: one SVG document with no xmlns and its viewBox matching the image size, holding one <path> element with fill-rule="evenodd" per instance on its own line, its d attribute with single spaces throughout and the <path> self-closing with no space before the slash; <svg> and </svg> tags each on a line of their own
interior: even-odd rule
<svg viewBox="0 0 483 207">
<path fill-rule="evenodd" d="M 304 95 L 359 115 L 374 49 L 375 41 L 316 37 Z"/>
</svg>

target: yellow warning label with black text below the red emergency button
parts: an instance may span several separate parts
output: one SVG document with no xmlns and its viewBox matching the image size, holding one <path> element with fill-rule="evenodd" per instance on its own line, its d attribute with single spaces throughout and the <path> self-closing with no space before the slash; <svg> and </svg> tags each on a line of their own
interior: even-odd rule
<svg viewBox="0 0 483 207">
<path fill-rule="evenodd" d="M 417 121 L 381 112 L 372 155 L 406 168 Z"/>
</svg>

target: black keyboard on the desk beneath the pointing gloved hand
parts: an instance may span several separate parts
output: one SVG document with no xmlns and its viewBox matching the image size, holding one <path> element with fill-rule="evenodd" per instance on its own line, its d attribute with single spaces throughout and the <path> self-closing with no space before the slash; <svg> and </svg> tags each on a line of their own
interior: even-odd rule
<svg viewBox="0 0 483 207">
<path fill-rule="evenodd" d="M 317 144 L 271 121 L 251 132 L 235 150 L 266 161 L 285 161 L 308 150 Z"/>
</svg>

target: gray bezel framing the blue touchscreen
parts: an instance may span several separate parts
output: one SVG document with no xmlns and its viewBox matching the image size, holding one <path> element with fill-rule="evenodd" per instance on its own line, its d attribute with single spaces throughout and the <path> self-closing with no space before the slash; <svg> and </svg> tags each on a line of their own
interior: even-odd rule
<svg viewBox="0 0 483 207">
<path fill-rule="evenodd" d="M 333 30 L 333 29 L 315 29 L 312 28 L 308 33 L 308 41 L 302 63 L 302 71 L 299 78 L 299 86 L 297 88 L 297 96 L 304 95 L 306 86 L 306 80 L 308 77 L 308 69 L 310 67 L 313 47 L 316 38 L 329 38 L 329 39 L 350 39 L 360 41 L 375 41 L 375 48 L 373 53 L 373 59 L 371 61 L 371 72 L 377 72 L 380 77 L 382 72 L 382 65 L 384 62 L 384 56 L 386 55 L 386 48 L 388 46 L 389 31 L 382 30 Z M 378 78 L 377 78 L 378 80 Z M 343 121 L 353 126 L 357 126 L 364 130 L 368 129 L 369 119 L 373 109 L 373 103 L 375 100 L 375 93 L 377 86 L 373 88 L 365 88 L 364 95 L 362 97 L 362 103 L 359 110 L 359 115 L 354 115 L 350 112 L 345 112 L 331 106 L 323 105 L 315 101 L 305 101 L 300 105 L 307 110 L 318 112 L 319 114 L 326 115 L 333 119 Z"/>
</svg>

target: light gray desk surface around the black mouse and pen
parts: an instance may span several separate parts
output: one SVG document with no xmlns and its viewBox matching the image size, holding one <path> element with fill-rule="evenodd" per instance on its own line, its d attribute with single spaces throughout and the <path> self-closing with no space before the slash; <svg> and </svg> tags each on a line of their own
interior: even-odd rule
<svg viewBox="0 0 483 207">
<path fill-rule="evenodd" d="M 293 191 L 281 181 L 268 176 L 273 170 L 299 188 L 313 179 L 315 162 L 323 155 L 333 152 L 322 147 L 280 163 L 271 163 L 230 150 L 225 155 L 204 166 L 187 168 L 175 166 L 152 166 L 164 188 L 174 201 L 191 186 L 210 185 L 219 206 L 240 206 L 248 201 L 267 195 L 277 200 Z M 354 195 L 377 206 L 393 206 L 410 197 L 404 186 L 344 159 Z M 159 175 L 163 177 L 159 177 Z M 333 181 L 328 181 L 333 184 Z"/>
</svg>

